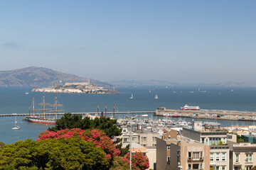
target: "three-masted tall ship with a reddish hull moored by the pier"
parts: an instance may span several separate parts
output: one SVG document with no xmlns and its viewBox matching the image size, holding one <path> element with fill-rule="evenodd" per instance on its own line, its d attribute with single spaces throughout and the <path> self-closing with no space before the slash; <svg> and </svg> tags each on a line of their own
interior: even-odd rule
<svg viewBox="0 0 256 170">
<path fill-rule="evenodd" d="M 32 108 L 29 108 L 29 115 L 24 118 L 24 120 L 27 120 L 28 122 L 32 123 L 44 123 L 44 124 L 56 124 L 56 120 L 58 120 L 58 113 L 59 111 L 64 111 L 64 110 L 58 110 L 58 107 L 63 106 L 62 104 L 58 104 L 57 101 L 57 93 L 55 94 L 55 103 L 50 104 L 45 102 L 45 95 L 43 92 L 43 103 L 39 103 L 39 106 L 41 108 L 36 109 L 35 108 L 35 99 L 33 98 L 33 106 Z M 50 108 L 46 108 L 50 107 Z M 32 111 L 32 114 L 31 114 Z M 37 113 L 36 111 L 41 111 L 43 113 Z M 46 111 L 50 113 L 46 113 Z M 53 112 L 55 113 L 55 118 L 46 118 L 46 115 L 53 115 Z"/>
</svg>

